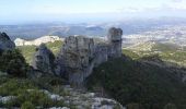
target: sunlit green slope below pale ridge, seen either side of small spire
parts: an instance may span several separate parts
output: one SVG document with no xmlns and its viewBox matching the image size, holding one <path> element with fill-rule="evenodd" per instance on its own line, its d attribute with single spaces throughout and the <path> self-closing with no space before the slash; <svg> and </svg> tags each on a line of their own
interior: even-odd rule
<svg viewBox="0 0 186 109">
<path fill-rule="evenodd" d="M 46 44 L 46 46 L 54 52 L 55 56 L 57 56 L 57 53 L 60 51 L 60 48 L 62 46 L 62 41 L 57 40 L 55 43 L 48 43 Z M 21 50 L 26 62 L 31 64 L 35 53 L 36 46 L 21 46 L 18 47 L 18 49 Z"/>
</svg>

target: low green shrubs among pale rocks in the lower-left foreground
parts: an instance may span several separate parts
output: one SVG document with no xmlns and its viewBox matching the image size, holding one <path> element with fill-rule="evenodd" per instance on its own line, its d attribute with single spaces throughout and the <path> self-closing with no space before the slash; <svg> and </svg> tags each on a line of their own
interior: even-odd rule
<svg viewBox="0 0 186 109">
<path fill-rule="evenodd" d="M 22 109 L 34 109 L 33 107 L 38 106 L 42 108 L 65 107 L 67 105 L 63 100 L 53 100 L 46 93 L 40 90 L 47 89 L 54 94 L 67 95 L 61 86 L 62 84 L 63 80 L 53 76 L 36 80 L 1 76 L 0 95 L 3 97 L 14 96 L 15 98 L 5 104 L 0 102 L 0 107 L 21 107 Z"/>
</svg>

